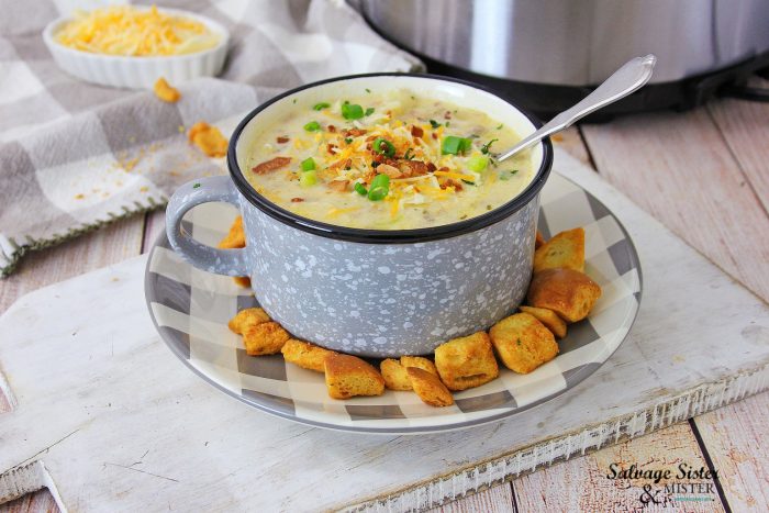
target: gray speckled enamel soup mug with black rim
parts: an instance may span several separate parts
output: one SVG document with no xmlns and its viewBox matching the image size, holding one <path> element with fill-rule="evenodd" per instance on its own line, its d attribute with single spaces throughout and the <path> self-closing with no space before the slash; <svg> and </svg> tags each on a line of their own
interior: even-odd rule
<svg viewBox="0 0 769 513">
<path fill-rule="evenodd" d="M 482 87 L 430 75 L 375 74 L 311 83 L 258 107 L 230 142 L 230 177 L 196 180 L 176 191 L 166 213 L 168 238 L 196 267 L 248 276 L 267 313 L 296 337 L 344 353 L 419 355 L 448 338 L 488 328 L 523 300 L 532 272 L 539 191 L 553 165 L 549 141 L 532 149 L 532 183 L 512 201 L 454 224 L 420 230 L 358 230 L 321 223 L 258 194 L 241 170 L 261 123 L 294 100 L 412 89 L 490 112 L 520 134 L 538 122 Z M 181 219 L 194 205 L 224 201 L 243 213 L 247 246 L 216 249 L 189 236 Z"/>
</svg>

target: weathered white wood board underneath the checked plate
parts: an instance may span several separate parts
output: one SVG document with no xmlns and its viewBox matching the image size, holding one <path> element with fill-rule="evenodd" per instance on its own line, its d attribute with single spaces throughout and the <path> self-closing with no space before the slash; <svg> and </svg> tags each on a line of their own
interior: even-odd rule
<svg viewBox="0 0 769 513">
<path fill-rule="evenodd" d="M 561 153 L 556 161 L 618 215 L 644 266 L 631 336 L 560 398 L 431 436 L 358 436 L 268 416 L 170 355 L 145 311 L 140 257 L 33 292 L 0 320 L 15 402 L 0 415 L 0 470 L 42 460 L 63 510 L 420 508 L 765 389 L 767 305 L 592 171 Z M 46 484 L 5 475 L 0 500 L 20 479 Z"/>
</svg>

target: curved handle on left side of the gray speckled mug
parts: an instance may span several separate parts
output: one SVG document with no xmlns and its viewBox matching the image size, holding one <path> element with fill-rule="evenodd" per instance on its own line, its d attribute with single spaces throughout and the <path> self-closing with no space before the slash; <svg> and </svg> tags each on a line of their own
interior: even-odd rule
<svg viewBox="0 0 769 513">
<path fill-rule="evenodd" d="M 218 249 L 192 238 L 181 220 L 202 203 L 224 202 L 239 208 L 238 192 L 229 176 L 192 180 L 174 192 L 166 209 L 166 234 L 174 249 L 194 267 L 218 275 L 250 276 L 245 249 Z"/>
</svg>

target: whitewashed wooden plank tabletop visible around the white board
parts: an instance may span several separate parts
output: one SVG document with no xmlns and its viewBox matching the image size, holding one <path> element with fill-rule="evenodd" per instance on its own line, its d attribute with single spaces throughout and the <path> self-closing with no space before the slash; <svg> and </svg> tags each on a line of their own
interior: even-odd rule
<svg viewBox="0 0 769 513">
<path fill-rule="evenodd" d="M 556 144 L 769 300 L 769 104 L 720 100 L 686 113 L 623 118 L 571 129 L 556 136 Z M 31 255 L 14 276 L 0 281 L 0 312 L 25 292 L 146 252 L 163 227 L 163 213 L 156 212 Z M 0 412 L 5 410 L 0 395 Z M 618 461 L 645 468 L 687 462 L 716 469 L 715 500 L 687 504 L 686 511 L 769 511 L 769 392 L 443 509 L 638 508 L 638 489 L 622 489 L 605 479 L 610 465 Z M 45 490 L 0 505 L 0 512 L 56 510 Z"/>
</svg>

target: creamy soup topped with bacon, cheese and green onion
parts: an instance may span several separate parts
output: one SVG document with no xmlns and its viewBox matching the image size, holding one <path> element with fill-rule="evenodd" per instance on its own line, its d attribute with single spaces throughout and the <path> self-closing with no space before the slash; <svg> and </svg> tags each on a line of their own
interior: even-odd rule
<svg viewBox="0 0 769 513">
<path fill-rule="evenodd" d="M 402 89 L 296 104 L 265 126 L 244 174 L 299 215 L 357 228 L 455 223 L 509 202 L 534 178 L 520 136 L 488 114 Z"/>
</svg>

